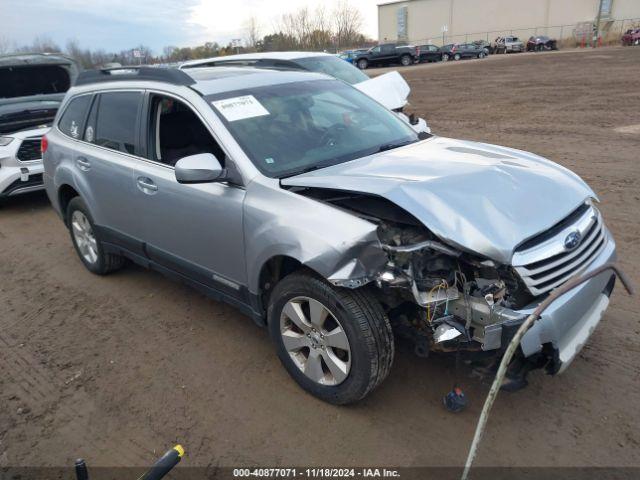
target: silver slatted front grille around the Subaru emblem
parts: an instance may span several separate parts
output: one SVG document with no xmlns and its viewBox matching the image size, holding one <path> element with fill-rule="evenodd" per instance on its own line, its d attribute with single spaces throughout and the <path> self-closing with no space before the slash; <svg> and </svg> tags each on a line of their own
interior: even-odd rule
<svg viewBox="0 0 640 480">
<path fill-rule="evenodd" d="M 569 250 L 565 239 L 573 232 L 579 233 L 581 240 L 577 247 Z M 533 295 L 542 295 L 584 270 L 602 251 L 606 241 L 600 212 L 585 204 L 517 248 L 513 267 Z"/>
</svg>

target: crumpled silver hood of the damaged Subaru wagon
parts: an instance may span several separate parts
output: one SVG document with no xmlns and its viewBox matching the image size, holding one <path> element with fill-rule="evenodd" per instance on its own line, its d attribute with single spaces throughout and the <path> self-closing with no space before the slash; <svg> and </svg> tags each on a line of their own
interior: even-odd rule
<svg viewBox="0 0 640 480">
<path fill-rule="evenodd" d="M 404 208 L 441 240 L 508 264 L 517 245 L 595 194 L 537 155 L 443 137 L 282 180 L 362 192 Z"/>
</svg>

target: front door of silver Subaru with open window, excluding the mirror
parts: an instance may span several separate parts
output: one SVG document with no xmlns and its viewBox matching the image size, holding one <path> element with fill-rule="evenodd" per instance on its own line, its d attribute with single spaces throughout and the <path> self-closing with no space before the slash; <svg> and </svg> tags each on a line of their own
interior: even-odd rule
<svg viewBox="0 0 640 480">
<path fill-rule="evenodd" d="M 185 99 L 148 92 L 143 116 L 146 158 L 134 165 L 133 210 L 140 212 L 147 256 L 198 283 L 244 300 L 242 212 L 245 190 L 230 183 L 181 184 L 180 158 L 226 153 Z"/>
</svg>

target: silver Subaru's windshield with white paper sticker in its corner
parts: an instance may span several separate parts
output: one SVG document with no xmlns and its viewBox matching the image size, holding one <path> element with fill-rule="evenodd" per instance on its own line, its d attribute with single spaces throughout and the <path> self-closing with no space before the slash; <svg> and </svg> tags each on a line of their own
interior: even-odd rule
<svg viewBox="0 0 640 480">
<path fill-rule="evenodd" d="M 418 140 L 391 111 L 337 80 L 269 85 L 206 99 L 254 165 L 274 178 Z"/>
</svg>

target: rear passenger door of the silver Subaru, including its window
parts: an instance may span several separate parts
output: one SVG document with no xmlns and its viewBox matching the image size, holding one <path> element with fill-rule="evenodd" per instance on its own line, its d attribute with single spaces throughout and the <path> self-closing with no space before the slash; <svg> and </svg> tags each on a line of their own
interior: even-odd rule
<svg viewBox="0 0 640 480">
<path fill-rule="evenodd" d="M 138 218 L 132 210 L 133 161 L 138 142 L 143 92 L 102 92 L 95 95 L 75 148 L 75 167 L 85 201 L 102 240 L 140 252 Z M 75 127 L 72 127 L 72 131 Z"/>
</svg>

